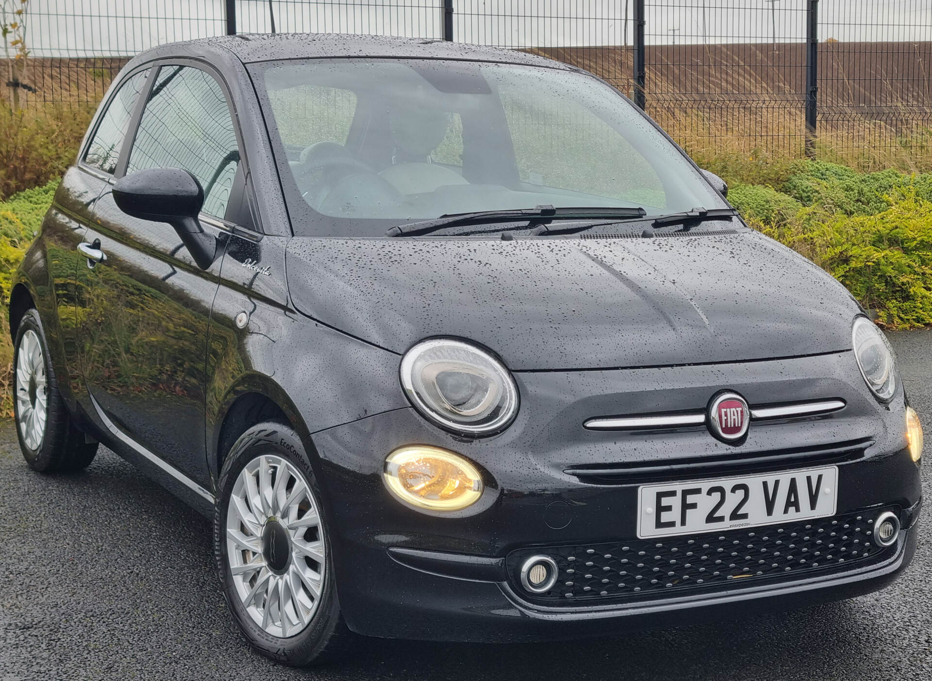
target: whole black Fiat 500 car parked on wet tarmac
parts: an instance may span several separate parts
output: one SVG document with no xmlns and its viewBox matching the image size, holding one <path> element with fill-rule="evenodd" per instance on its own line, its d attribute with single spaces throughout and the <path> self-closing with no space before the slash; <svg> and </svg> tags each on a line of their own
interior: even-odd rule
<svg viewBox="0 0 932 681">
<path fill-rule="evenodd" d="M 593 75 L 336 35 L 115 80 L 12 290 L 35 470 L 98 443 L 212 516 L 249 642 L 564 639 L 910 562 L 884 335 Z"/>
</svg>

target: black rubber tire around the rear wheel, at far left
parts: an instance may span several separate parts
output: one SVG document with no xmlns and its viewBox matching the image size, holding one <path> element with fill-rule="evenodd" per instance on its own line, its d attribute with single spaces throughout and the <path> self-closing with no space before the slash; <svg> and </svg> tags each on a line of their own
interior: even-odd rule
<svg viewBox="0 0 932 681">
<path fill-rule="evenodd" d="M 23 436 L 23 427 L 20 422 L 20 401 L 17 400 L 19 388 L 19 373 L 17 367 L 20 361 L 22 339 L 32 332 L 38 337 L 39 347 L 42 349 L 42 363 L 46 371 L 46 424 L 42 440 L 35 447 L 31 447 Z M 32 337 L 32 336 L 30 336 Z M 84 433 L 76 429 L 68 409 L 59 392 L 58 381 L 55 378 L 55 369 L 52 367 L 51 357 L 48 354 L 45 330 L 39 313 L 30 308 L 22 315 L 20 326 L 16 332 L 13 354 L 13 414 L 16 420 L 16 434 L 20 440 L 22 457 L 33 470 L 43 473 L 75 472 L 86 469 L 97 454 L 97 443 L 85 442 Z"/>
</svg>

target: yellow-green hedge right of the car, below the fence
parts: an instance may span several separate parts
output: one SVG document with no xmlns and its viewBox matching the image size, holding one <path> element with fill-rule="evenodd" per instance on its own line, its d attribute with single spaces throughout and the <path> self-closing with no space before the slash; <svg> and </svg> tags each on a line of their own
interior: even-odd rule
<svg viewBox="0 0 932 681">
<path fill-rule="evenodd" d="M 839 279 L 891 328 L 932 324 L 932 174 L 794 164 L 779 186 L 736 184 L 747 222 Z"/>
</svg>

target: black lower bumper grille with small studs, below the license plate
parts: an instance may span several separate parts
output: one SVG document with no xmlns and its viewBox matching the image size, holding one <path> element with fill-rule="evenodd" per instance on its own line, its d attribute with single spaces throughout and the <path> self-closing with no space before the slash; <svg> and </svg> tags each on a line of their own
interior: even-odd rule
<svg viewBox="0 0 932 681">
<path fill-rule="evenodd" d="M 583 546 L 521 549 L 508 555 L 515 592 L 549 605 L 639 601 L 804 579 L 884 560 L 895 551 L 873 542 L 871 509 L 800 523 L 702 535 L 631 539 Z M 894 545 L 896 546 L 896 545 Z M 558 568 L 553 589 L 525 592 L 517 579 L 531 555 L 549 555 Z"/>
</svg>

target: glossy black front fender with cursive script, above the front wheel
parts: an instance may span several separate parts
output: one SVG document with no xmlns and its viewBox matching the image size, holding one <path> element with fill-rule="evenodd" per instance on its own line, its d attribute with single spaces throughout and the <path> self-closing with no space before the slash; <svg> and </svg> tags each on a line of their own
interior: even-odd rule
<svg viewBox="0 0 932 681">
<path fill-rule="evenodd" d="M 398 357 L 308 320 L 288 305 L 286 242 L 230 240 L 209 345 L 207 412 L 214 446 L 226 411 L 254 391 L 272 397 L 308 435 L 407 406 L 397 389 Z M 269 274 L 251 269 L 254 263 Z M 242 329 L 236 323 L 240 312 L 248 315 Z"/>
</svg>

